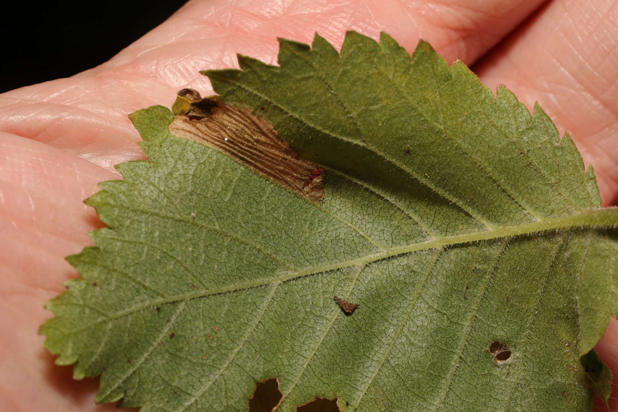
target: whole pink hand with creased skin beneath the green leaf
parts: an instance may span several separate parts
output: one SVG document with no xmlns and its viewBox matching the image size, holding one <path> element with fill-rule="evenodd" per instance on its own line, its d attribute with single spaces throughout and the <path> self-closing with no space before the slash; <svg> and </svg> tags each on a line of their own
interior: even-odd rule
<svg viewBox="0 0 618 412">
<path fill-rule="evenodd" d="M 53 364 L 37 330 L 51 316 L 44 303 L 77 277 L 64 256 L 101 227 L 82 200 L 118 178 L 114 164 L 144 158 L 130 112 L 171 106 L 184 87 L 211 94 L 198 70 L 236 67 L 235 53 L 276 63 L 277 36 L 307 43 L 317 31 L 339 47 L 345 30 L 385 31 L 408 51 L 425 38 L 493 90 L 504 83 L 528 107 L 538 100 L 593 164 L 609 205 L 618 200 L 617 20 L 618 1 L 606 0 L 196 0 L 95 69 L 0 95 L 0 410 L 116 410 L 93 403 L 96 379 L 74 381 Z M 596 348 L 616 374 L 617 321 Z"/>
</svg>

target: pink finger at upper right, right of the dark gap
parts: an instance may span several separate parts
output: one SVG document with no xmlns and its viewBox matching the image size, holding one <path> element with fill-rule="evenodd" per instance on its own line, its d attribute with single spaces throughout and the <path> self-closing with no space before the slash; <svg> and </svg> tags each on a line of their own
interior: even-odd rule
<svg viewBox="0 0 618 412">
<path fill-rule="evenodd" d="M 597 175 L 601 198 L 618 194 L 618 2 L 550 3 L 475 67 L 568 130 Z"/>
</svg>

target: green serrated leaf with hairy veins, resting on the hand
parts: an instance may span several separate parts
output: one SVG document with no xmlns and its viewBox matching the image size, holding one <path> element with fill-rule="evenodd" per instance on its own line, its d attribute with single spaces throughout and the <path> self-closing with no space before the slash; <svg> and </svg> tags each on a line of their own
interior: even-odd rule
<svg viewBox="0 0 618 412">
<path fill-rule="evenodd" d="M 58 364 L 145 412 L 246 411 L 271 377 L 282 412 L 591 410 L 618 211 L 540 107 L 387 35 L 239 61 L 214 89 L 309 162 L 214 99 L 135 112 L 150 161 L 87 201 L 108 228 L 48 303 Z"/>
</svg>

